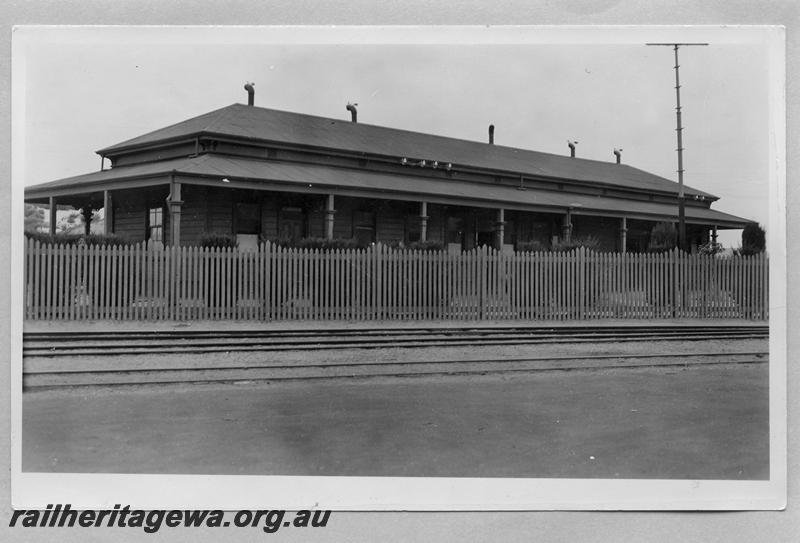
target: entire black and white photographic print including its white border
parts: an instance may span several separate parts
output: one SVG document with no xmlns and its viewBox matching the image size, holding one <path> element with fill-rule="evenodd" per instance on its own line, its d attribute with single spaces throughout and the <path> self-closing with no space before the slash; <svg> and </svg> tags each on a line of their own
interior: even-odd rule
<svg viewBox="0 0 800 543">
<path fill-rule="evenodd" d="M 19 505 L 782 507 L 782 29 L 13 40 Z"/>
</svg>

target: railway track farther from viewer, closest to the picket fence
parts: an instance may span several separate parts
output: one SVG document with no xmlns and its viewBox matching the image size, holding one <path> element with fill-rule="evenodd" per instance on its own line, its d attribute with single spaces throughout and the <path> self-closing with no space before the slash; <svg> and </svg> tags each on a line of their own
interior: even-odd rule
<svg viewBox="0 0 800 543">
<path fill-rule="evenodd" d="M 318 330 L 29 332 L 26 358 L 271 352 L 322 349 L 763 339 L 766 325 L 504 326 L 462 328 L 328 328 Z"/>
</svg>

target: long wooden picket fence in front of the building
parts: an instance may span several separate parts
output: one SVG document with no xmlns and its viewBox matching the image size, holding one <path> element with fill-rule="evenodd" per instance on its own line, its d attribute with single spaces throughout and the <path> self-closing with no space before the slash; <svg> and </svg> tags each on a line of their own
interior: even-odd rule
<svg viewBox="0 0 800 543">
<path fill-rule="evenodd" d="M 764 254 L 257 251 L 28 240 L 30 320 L 768 318 Z"/>
</svg>

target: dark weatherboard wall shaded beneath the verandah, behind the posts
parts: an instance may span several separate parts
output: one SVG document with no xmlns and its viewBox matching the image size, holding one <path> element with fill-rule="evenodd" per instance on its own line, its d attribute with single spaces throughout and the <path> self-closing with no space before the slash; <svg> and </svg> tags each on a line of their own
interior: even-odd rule
<svg viewBox="0 0 800 543">
<path fill-rule="evenodd" d="M 113 231 L 131 241 L 147 238 L 147 210 L 164 210 L 164 241 L 171 243 L 167 208 L 168 186 L 152 189 L 114 191 Z M 199 245 L 210 234 L 235 236 L 238 229 L 237 204 L 258 206 L 258 232 L 262 239 L 325 236 L 326 196 L 277 191 L 232 189 L 224 186 L 182 184 L 181 245 Z M 421 237 L 421 202 L 365 199 L 347 196 L 334 198 L 335 238 L 358 238 L 385 244 L 408 243 Z M 430 204 L 427 207 L 427 240 L 460 243 L 471 249 L 494 244 L 497 210 L 456 205 Z M 542 248 L 554 237 L 563 236 L 564 214 L 506 211 L 505 245 L 537 242 Z M 294 225 L 290 224 L 292 221 Z M 653 221 L 629 220 L 627 250 L 646 250 Z M 602 251 L 620 250 L 621 220 L 586 215 L 572 216 L 573 237 L 593 237 Z M 291 234 L 291 235 L 289 235 Z M 708 229 L 689 225 L 687 236 L 692 246 L 708 241 Z"/>
</svg>

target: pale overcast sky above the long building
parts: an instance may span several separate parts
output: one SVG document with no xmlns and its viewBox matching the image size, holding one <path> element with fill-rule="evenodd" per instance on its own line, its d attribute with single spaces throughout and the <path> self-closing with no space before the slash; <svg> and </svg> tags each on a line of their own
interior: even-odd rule
<svg viewBox="0 0 800 543">
<path fill-rule="evenodd" d="M 452 30 L 452 29 L 451 29 Z M 19 37 L 19 35 L 15 36 Z M 767 49 L 719 29 L 681 49 L 684 180 L 766 227 Z M 257 106 L 622 160 L 677 180 L 677 32 L 577 29 L 51 28 L 15 42 L 15 145 L 32 185 L 96 171 L 95 150 L 227 106 Z M 21 64 L 20 64 L 21 63 Z M 21 77 L 21 80 L 19 80 Z M 17 180 L 19 182 L 19 180 Z M 721 241 L 737 246 L 739 233 Z"/>
</svg>

